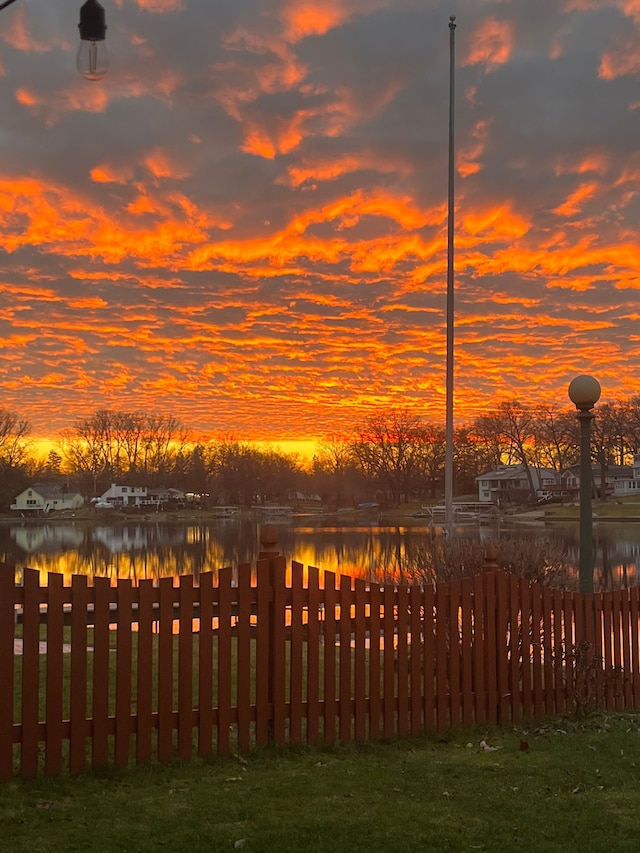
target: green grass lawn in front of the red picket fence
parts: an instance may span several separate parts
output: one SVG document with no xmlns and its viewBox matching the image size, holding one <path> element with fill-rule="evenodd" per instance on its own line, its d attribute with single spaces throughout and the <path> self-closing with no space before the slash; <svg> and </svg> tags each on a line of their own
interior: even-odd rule
<svg viewBox="0 0 640 853">
<path fill-rule="evenodd" d="M 636 851 L 640 715 L 17 781 L 0 838 L 11 853 Z"/>
</svg>

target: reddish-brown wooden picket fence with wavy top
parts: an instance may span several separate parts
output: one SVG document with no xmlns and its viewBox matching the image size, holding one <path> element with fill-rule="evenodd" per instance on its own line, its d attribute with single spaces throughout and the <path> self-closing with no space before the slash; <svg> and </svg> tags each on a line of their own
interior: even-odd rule
<svg viewBox="0 0 640 853">
<path fill-rule="evenodd" d="M 639 597 L 501 571 L 380 585 L 279 556 L 197 584 L 0 565 L 0 780 L 638 709 Z"/>
</svg>

